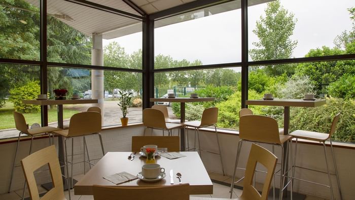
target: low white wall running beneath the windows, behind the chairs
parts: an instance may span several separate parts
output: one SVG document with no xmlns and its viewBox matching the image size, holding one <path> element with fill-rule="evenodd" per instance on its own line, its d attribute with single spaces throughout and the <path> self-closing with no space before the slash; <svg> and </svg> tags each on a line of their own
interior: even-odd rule
<svg viewBox="0 0 355 200">
<path fill-rule="evenodd" d="M 131 137 L 132 136 L 142 136 L 144 132 L 143 126 L 133 126 L 127 128 L 104 130 L 101 132 L 103 145 L 105 152 L 108 151 L 130 151 L 131 150 Z M 150 131 L 147 130 L 147 135 L 150 135 Z M 161 136 L 161 131 L 154 130 L 153 135 Z M 174 132 L 177 135 L 177 131 Z M 193 145 L 193 131 L 189 131 L 190 146 Z M 239 137 L 236 135 L 219 134 L 220 144 L 222 147 L 223 161 L 225 166 L 225 174 L 232 176 L 233 167 L 235 164 L 236 149 L 239 141 Z M 87 136 L 86 137 L 89 149 L 89 155 L 91 159 L 102 157 L 100 143 L 98 136 Z M 216 136 L 214 133 L 207 131 L 200 131 L 200 142 L 201 147 L 209 151 L 218 151 Z M 55 142 L 57 144 L 57 142 Z M 21 142 L 20 150 L 18 154 L 18 161 L 24 158 L 28 154 L 29 141 Z M 33 151 L 38 151 L 44 147 L 48 146 L 48 139 L 34 140 Z M 71 152 L 71 144 L 68 141 L 68 154 Z M 83 153 L 83 140 L 77 138 L 74 141 L 74 160 L 82 160 Z M 245 166 L 248 152 L 250 151 L 250 143 L 244 143 L 242 148 L 242 153 L 240 155 L 240 160 L 238 166 Z M 272 150 L 270 145 L 261 145 L 270 151 Z M 13 156 L 15 154 L 16 143 L 7 143 L 0 145 L 0 152 L 2 152 L 0 165 L 0 193 L 6 193 L 8 191 L 10 183 L 10 174 L 12 168 Z M 355 173 L 353 172 L 355 166 L 355 150 L 346 148 L 334 148 L 335 156 L 337 159 L 338 173 L 341 181 L 343 199 L 354 199 L 355 190 L 353 190 L 353 183 L 355 180 Z M 275 148 L 275 154 L 277 157 L 280 156 L 280 149 Z M 330 148 L 327 147 L 328 158 L 331 158 Z M 205 168 L 209 172 L 217 172 L 222 174 L 222 168 L 220 164 L 220 158 L 218 155 L 202 152 L 202 161 Z M 74 161 L 75 162 L 75 161 Z M 95 161 L 94 161 L 95 162 Z M 297 154 L 297 165 L 313 168 L 320 171 L 326 171 L 326 164 L 324 158 L 323 146 L 309 145 L 309 144 L 299 144 L 298 154 Z M 89 170 L 88 165 L 87 170 Z M 188 167 L 188 166 L 187 166 Z M 279 168 L 279 166 L 278 166 Z M 334 172 L 333 162 L 330 159 L 330 169 Z M 83 174 L 83 164 L 74 165 L 74 175 Z M 241 177 L 243 171 L 238 171 L 237 175 Z M 307 178 L 315 182 L 321 182 L 328 184 L 328 177 L 324 174 L 319 174 L 316 172 L 309 172 L 306 170 L 297 170 L 296 175 L 300 178 Z M 46 183 L 50 181 L 49 172 L 46 168 L 41 168 L 36 174 L 38 178 L 38 184 Z M 277 178 L 277 177 L 276 177 Z M 263 182 L 263 175 L 257 176 L 258 182 Z M 13 180 L 12 190 L 21 189 L 23 187 L 24 178 L 22 174 L 21 167 L 16 168 Z M 335 176 L 332 176 L 332 183 L 334 187 L 335 197 L 339 199 L 339 193 L 337 190 L 337 182 Z M 278 185 L 278 181 L 276 181 Z M 295 181 L 294 190 L 304 193 L 312 194 L 319 197 L 330 198 L 330 191 L 328 188 L 323 186 L 317 186 L 314 184 Z"/>
</svg>

